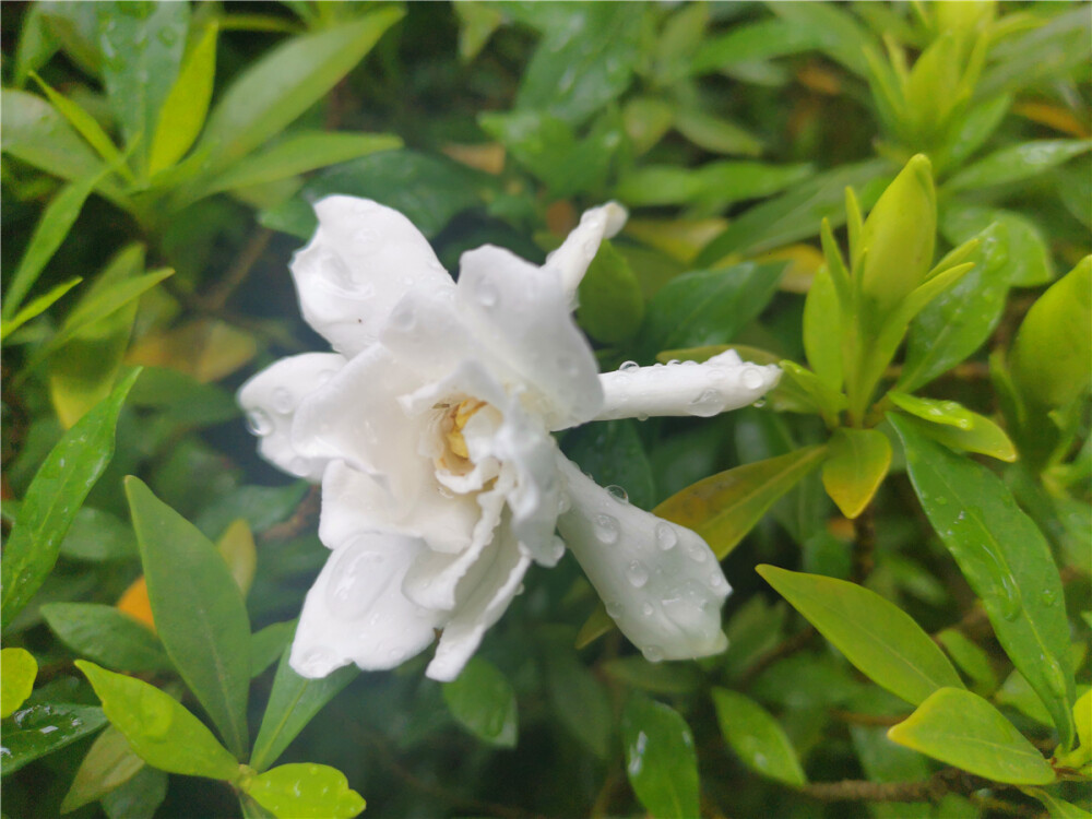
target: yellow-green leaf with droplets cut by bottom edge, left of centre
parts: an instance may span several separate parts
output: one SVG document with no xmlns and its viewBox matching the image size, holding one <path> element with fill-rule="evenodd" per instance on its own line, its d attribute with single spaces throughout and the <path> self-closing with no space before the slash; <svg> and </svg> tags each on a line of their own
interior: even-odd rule
<svg viewBox="0 0 1092 819">
<path fill-rule="evenodd" d="M 250 780 L 245 791 L 278 819 L 349 819 L 365 805 L 344 773 L 311 763 L 274 768 Z"/>
</svg>

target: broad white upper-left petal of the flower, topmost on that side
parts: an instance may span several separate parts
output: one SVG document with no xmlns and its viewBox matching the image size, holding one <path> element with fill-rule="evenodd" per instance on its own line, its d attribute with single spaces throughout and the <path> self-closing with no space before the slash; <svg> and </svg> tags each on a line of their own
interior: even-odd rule
<svg viewBox="0 0 1092 819">
<path fill-rule="evenodd" d="M 292 274 L 304 319 L 340 353 L 371 344 L 411 289 L 452 287 L 432 248 L 397 211 L 368 199 L 328 197 L 319 227 Z"/>
</svg>

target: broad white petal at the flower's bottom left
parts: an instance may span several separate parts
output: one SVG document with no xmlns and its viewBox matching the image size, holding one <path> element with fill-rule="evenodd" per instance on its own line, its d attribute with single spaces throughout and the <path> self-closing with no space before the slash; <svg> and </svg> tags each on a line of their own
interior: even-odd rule
<svg viewBox="0 0 1092 819">
<path fill-rule="evenodd" d="M 365 670 L 393 668 L 434 639 L 443 615 L 402 594 L 422 541 L 361 534 L 336 549 L 307 594 L 288 662 L 302 677 L 324 677 L 356 663 Z"/>
</svg>

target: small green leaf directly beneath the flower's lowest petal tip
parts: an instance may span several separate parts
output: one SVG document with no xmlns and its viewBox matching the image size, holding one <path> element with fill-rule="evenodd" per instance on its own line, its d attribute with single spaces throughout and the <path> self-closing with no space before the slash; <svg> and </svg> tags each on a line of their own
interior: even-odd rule
<svg viewBox="0 0 1092 819">
<path fill-rule="evenodd" d="M 453 682 L 443 684 L 443 701 L 455 721 L 474 736 L 500 748 L 515 747 L 515 691 L 491 663 L 471 658 Z"/>
</svg>

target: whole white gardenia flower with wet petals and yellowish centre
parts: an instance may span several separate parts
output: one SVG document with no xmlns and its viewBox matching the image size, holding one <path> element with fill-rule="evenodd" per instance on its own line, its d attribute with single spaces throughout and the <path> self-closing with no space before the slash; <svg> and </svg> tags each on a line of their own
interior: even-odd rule
<svg viewBox="0 0 1092 819">
<path fill-rule="evenodd" d="M 401 213 L 351 197 L 316 212 L 292 273 L 335 352 L 280 360 L 239 391 L 261 454 L 322 483 L 331 555 L 292 667 L 392 668 L 442 629 L 427 674 L 454 679 L 531 563 L 566 548 L 649 660 L 723 651 L 729 587 L 705 542 L 597 486 L 550 431 L 713 415 L 753 403 L 778 368 L 725 353 L 598 373 L 571 310 L 625 222 L 617 204 L 587 211 L 541 268 L 488 245 L 465 252 L 458 283 Z"/>
</svg>

